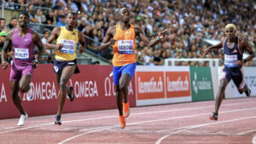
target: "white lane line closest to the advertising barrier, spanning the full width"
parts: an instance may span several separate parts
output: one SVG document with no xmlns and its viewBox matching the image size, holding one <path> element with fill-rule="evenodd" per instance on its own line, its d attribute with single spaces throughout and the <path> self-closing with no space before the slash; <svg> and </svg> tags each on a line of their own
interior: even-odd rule
<svg viewBox="0 0 256 144">
<path fill-rule="evenodd" d="M 230 104 L 225 104 L 224 107 L 226 106 L 236 106 L 236 105 L 241 105 L 241 104 L 249 104 L 249 103 L 255 103 L 256 101 L 249 101 L 249 102 L 236 102 L 236 103 L 230 103 Z M 143 115 L 143 114 L 152 114 L 152 113 L 160 113 L 160 112 L 176 112 L 176 111 L 188 111 L 188 110 L 194 110 L 194 109 L 201 109 L 201 108 L 210 108 L 214 106 L 207 106 L 207 107 L 190 107 L 190 108 L 181 108 L 181 109 L 172 109 L 172 110 L 166 110 L 166 111 L 155 111 L 155 112 L 139 112 L 139 113 L 133 113 L 131 116 L 134 115 Z M 140 108 L 140 107 L 135 107 L 135 108 Z M 84 118 L 84 119 L 76 119 L 76 120 L 69 120 L 69 121 L 64 121 L 62 124 L 65 123 L 73 123 L 73 122 L 82 122 L 82 121 L 88 121 L 88 120 L 96 120 L 96 119 L 103 119 L 103 118 L 117 118 L 118 116 L 108 116 L 108 117 L 100 117 L 100 118 Z M 0 134 L 5 134 L 9 132 L 14 132 L 18 130 L 27 130 L 27 129 L 32 129 L 32 128 L 37 128 L 40 126 L 48 126 L 48 125 L 53 125 L 53 123 L 44 123 L 44 124 L 34 124 L 28 127 L 10 127 L 10 128 L 3 128 L 7 129 L 7 131 L 0 132 Z M 15 129 L 15 130 L 9 130 L 12 128 L 20 128 L 20 129 Z M 3 130 L 2 129 L 2 130 Z M 1 129 L 0 129 L 1 130 Z"/>
</svg>

